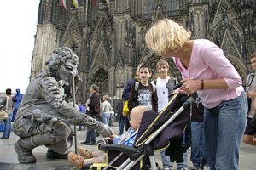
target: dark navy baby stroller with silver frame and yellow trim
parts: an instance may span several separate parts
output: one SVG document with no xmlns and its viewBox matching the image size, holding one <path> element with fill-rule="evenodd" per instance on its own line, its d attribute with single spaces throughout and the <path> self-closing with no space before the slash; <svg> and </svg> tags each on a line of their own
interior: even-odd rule
<svg viewBox="0 0 256 170">
<path fill-rule="evenodd" d="M 180 87 L 178 84 L 177 87 Z M 145 111 L 140 124 L 135 148 L 120 144 L 98 144 L 99 150 L 107 152 L 106 163 L 92 164 L 90 169 L 157 169 L 154 150 L 163 150 L 169 145 L 170 139 L 183 134 L 189 123 L 189 105 L 194 102 L 195 94 L 175 94 L 160 114 Z M 85 168 L 88 169 L 88 168 Z"/>
</svg>

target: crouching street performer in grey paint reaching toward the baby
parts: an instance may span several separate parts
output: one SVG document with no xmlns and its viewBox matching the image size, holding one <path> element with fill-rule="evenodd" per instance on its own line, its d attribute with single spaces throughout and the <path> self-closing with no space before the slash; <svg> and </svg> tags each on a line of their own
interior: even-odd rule
<svg viewBox="0 0 256 170">
<path fill-rule="evenodd" d="M 79 57 L 70 48 L 56 48 L 46 61 L 48 68 L 41 71 L 26 88 L 14 122 L 14 132 L 20 137 L 15 151 L 20 163 L 34 163 L 32 149 L 44 145 L 48 148 L 47 158 L 67 159 L 72 146 L 73 125 L 96 128 L 103 137 L 113 132 L 102 122 L 80 114 L 67 103 L 71 98 L 70 84 L 79 78 Z"/>
</svg>

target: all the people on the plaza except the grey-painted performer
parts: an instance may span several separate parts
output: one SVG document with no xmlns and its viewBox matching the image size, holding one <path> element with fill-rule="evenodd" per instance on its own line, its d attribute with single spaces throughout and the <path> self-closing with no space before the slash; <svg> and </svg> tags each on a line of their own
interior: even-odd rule
<svg viewBox="0 0 256 170">
<path fill-rule="evenodd" d="M 236 170 L 239 168 L 241 141 L 256 145 L 256 54 L 251 56 L 253 72 L 247 76 L 247 86 L 243 88 L 240 75 L 221 48 L 206 39 L 190 40 L 190 36 L 190 31 L 173 20 L 155 22 L 146 33 L 145 42 L 150 50 L 163 57 L 155 65 L 157 77 L 152 77 L 148 65 L 138 65 L 135 77 L 126 82 L 122 99 L 115 109 L 109 96 L 103 95 L 101 99 L 98 87 L 91 84 L 90 97 L 84 104 L 77 103 L 78 110 L 106 125 L 109 125 L 111 112 L 115 110 L 119 116 L 119 136 L 112 133 L 108 137 L 115 144 L 133 147 L 145 111 L 158 114 L 165 110 L 173 94 L 196 93 L 198 97 L 190 107 L 188 126 L 179 138 L 170 141 L 168 148 L 160 151 L 164 170 L 171 169 L 174 163 L 178 170 L 188 170 L 186 150 L 189 147 L 192 170 L 204 167 Z M 164 58 L 173 59 L 182 75 L 181 80 L 172 77 Z M 183 85 L 174 90 L 177 82 L 183 82 Z M 8 118 L 0 120 L 5 125 L 1 139 L 9 139 L 11 122 L 15 120 L 21 99 L 19 89 L 14 97 L 11 89 L 6 89 L 6 97 L 0 105 L 7 111 Z M 83 128 L 79 126 L 79 130 Z M 96 129 L 87 127 L 81 144 L 96 145 L 96 137 Z M 69 161 L 79 168 L 105 162 L 106 158 L 101 151 L 82 148 L 79 155 L 73 152 L 68 155 Z"/>
</svg>

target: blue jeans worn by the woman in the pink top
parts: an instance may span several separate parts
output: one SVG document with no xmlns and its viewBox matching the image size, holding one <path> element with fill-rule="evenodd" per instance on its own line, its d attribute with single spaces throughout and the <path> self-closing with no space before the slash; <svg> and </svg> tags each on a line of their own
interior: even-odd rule
<svg viewBox="0 0 256 170">
<path fill-rule="evenodd" d="M 211 170 L 239 168 L 239 148 L 247 124 L 247 98 L 222 101 L 212 109 L 205 108 L 204 126 L 207 165 Z"/>
</svg>

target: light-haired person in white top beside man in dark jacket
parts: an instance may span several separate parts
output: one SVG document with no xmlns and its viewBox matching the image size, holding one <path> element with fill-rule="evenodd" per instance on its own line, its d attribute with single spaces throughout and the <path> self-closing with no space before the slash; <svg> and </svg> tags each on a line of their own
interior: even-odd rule
<svg viewBox="0 0 256 170">
<path fill-rule="evenodd" d="M 106 125 L 109 124 L 110 111 L 112 111 L 112 106 L 108 100 L 109 100 L 108 95 L 103 95 L 102 122 Z"/>
</svg>

